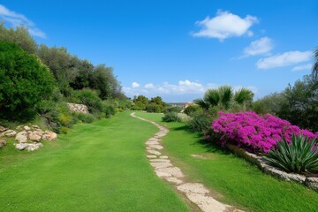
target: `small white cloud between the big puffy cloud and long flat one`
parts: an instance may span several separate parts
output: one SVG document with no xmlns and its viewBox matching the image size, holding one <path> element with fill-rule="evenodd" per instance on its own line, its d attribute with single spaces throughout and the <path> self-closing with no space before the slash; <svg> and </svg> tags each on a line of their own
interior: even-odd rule
<svg viewBox="0 0 318 212">
<path fill-rule="evenodd" d="M 259 40 L 251 42 L 251 44 L 244 49 L 244 56 L 266 55 L 274 48 L 269 37 L 262 37 Z"/>
</svg>

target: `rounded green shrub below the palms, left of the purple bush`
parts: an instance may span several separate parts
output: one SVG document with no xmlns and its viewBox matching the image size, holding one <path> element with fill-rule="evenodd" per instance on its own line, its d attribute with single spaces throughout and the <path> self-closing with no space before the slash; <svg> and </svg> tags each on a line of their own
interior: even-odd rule
<svg viewBox="0 0 318 212">
<path fill-rule="evenodd" d="M 197 111 L 193 113 L 193 118 L 187 123 L 189 129 L 193 132 L 204 133 L 211 126 L 213 117 L 206 111 Z"/>
</svg>

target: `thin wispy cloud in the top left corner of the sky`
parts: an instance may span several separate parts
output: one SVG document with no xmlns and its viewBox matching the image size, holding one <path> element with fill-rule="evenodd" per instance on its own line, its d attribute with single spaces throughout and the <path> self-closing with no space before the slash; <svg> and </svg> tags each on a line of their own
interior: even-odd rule
<svg viewBox="0 0 318 212">
<path fill-rule="evenodd" d="M 19 25 L 23 24 L 28 28 L 31 35 L 41 38 L 46 37 L 46 34 L 43 33 L 39 28 L 35 27 L 34 23 L 27 19 L 27 17 L 15 11 L 10 11 L 2 4 L 0 4 L 0 19 L 4 19 L 4 21 L 10 23 L 13 27 L 18 27 Z"/>
</svg>

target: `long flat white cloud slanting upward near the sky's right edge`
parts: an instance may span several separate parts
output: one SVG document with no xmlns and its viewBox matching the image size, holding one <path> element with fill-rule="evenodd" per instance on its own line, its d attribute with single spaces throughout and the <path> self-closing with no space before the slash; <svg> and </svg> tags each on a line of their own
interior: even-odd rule
<svg viewBox="0 0 318 212">
<path fill-rule="evenodd" d="M 258 69 L 271 69 L 299 64 L 309 61 L 311 58 L 311 51 L 287 51 L 272 57 L 261 58 L 257 61 L 256 66 Z"/>
</svg>

